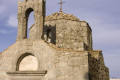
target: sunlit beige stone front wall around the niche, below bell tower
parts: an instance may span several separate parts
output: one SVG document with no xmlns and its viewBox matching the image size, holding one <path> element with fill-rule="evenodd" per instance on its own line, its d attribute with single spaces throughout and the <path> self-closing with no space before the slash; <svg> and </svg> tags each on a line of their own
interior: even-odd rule
<svg viewBox="0 0 120 80">
<path fill-rule="evenodd" d="M 24 58 L 29 60 L 27 56 L 31 54 L 38 60 L 37 70 L 36 68 L 29 68 L 29 70 L 26 70 L 27 72 L 21 72 L 18 69 L 19 63 Z M 57 48 L 55 45 L 46 43 L 43 40 L 24 39 L 17 41 L 6 49 L 2 56 L 0 60 L 1 80 L 29 80 L 29 77 L 35 80 L 89 80 L 88 53 L 86 51 L 66 50 Z M 26 61 L 22 62 L 23 66 L 28 63 L 29 61 L 27 63 Z M 35 65 L 31 66 L 34 68 Z M 25 69 L 23 70 L 25 71 Z M 39 71 L 45 70 L 47 71 L 45 75 L 36 75 L 41 73 Z M 23 74 L 26 76 L 23 77 Z"/>
</svg>

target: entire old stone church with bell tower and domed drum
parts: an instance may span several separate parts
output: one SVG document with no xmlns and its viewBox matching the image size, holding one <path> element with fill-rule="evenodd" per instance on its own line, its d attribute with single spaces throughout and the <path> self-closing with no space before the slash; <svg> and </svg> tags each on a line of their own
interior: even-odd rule
<svg viewBox="0 0 120 80">
<path fill-rule="evenodd" d="M 63 12 L 46 17 L 45 3 L 19 0 L 17 40 L 2 52 L 0 80 L 109 80 L 102 51 L 92 48 L 89 24 Z"/>
</svg>

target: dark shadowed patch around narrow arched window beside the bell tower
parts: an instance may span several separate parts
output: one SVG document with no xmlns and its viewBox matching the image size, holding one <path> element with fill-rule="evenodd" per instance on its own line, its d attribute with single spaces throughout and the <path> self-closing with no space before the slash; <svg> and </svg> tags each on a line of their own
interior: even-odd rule
<svg viewBox="0 0 120 80">
<path fill-rule="evenodd" d="M 44 40 L 56 44 L 56 25 L 44 26 Z"/>
</svg>

